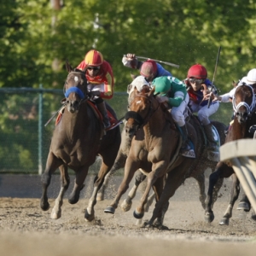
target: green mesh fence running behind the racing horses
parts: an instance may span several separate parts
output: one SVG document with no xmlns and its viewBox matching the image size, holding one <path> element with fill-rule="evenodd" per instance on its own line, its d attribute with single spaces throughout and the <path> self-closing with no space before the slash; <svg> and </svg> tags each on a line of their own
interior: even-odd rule
<svg viewBox="0 0 256 256">
<path fill-rule="evenodd" d="M 61 108 L 62 90 L 0 89 L 0 173 L 42 173 L 49 151 L 55 119 L 44 124 Z M 108 103 L 118 118 L 125 115 L 127 94 L 115 93 Z M 231 104 L 222 103 L 218 113 L 212 116 L 224 122 L 230 121 Z M 121 127 L 122 128 L 122 127 Z M 99 162 L 91 166 L 95 172 Z"/>
</svg>

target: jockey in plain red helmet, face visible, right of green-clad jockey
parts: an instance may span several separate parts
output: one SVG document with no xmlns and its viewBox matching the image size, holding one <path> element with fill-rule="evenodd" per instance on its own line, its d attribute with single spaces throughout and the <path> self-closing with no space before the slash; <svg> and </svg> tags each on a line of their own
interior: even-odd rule
<svg viewBox="0 0 256 256">
<path fill-rule="evenodd" d="M 207 79 L 206 67 L 200 64 L 190 67 L 184 83 L 187 85 L 187 91 L 189 93 L 189 107 L 193 113 L 197 112 L 198 118 L 206 132 L 207 148 L 210 151 L 218 152 L 218 145 L 213 137 L 212 124 L 209 116 L 217 112 L 219 102 L 211 102 L 209 108 L 207 106 L 207 95 L 212 88 L 212 82 Z"/>
</svg>

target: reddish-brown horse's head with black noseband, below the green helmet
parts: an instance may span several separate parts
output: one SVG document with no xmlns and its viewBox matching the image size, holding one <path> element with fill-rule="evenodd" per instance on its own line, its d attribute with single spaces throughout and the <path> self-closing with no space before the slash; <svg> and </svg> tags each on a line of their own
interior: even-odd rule
<svg viewBox="0 0 256 256">
<path fill-rule="evenodd" d="M 160 103 L 154 98 L 154 89 L 150 90 L 148 86 L 144 86 L 143 90 L 139 91 L 135 87 L 130 96 L 130 111 L 125 114 L 126 136 L 131 138 L 136 135 L 159 106 Z"/>
</svg>

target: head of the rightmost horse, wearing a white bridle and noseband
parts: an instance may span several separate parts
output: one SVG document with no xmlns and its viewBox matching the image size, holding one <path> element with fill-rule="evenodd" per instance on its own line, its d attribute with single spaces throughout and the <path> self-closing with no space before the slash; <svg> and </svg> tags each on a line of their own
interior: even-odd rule
<svg viewBox="0 0 256 256">
<path fill-rule="evenodd" d="M 240 124 L 247 121 L 255 106 L 253 87 L 247 84 L 236 86 L 233 97 L 233 109 Z"/>
</svg>

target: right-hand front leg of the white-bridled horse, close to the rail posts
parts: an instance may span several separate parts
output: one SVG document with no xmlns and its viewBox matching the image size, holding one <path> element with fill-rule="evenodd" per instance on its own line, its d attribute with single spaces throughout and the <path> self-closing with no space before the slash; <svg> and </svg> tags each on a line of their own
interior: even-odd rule
<svg viewBox="0 0 256 256">
<path fill-rule="evenodd" d="M 231 189 L 231 195 L 230 195 L 230 204 L 227 207 L 226 211 L 224 212 L 224 216 L 219 222 L 221 225 L 228 225 L 230 224 L 230 218 L 232 217 L 232 210 L 234 207 L 234 204 L 239 196 L 240 193 L 240 185 L 239 185 L 239 180 L 236 177 L 236 173 L 232 174 L 232 189 Z"/>
</svg>

